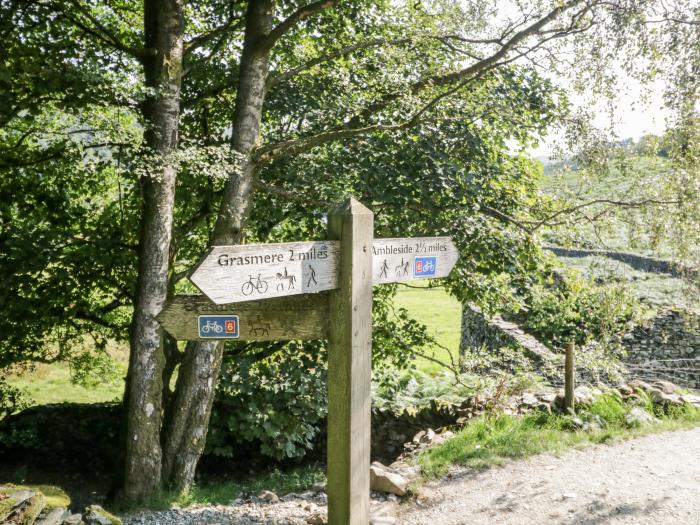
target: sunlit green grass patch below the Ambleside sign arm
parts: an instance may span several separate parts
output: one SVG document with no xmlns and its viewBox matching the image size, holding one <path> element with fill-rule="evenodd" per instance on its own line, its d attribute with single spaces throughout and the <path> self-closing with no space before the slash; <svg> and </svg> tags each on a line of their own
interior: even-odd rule
<svg viewBox="0 0 700 525">
<path fill-rule="evenodd" d="M 442 287 L 427 288 L 425 281 L 409 284 L 411 287 L 399 286 L 396 305 L 405 308 L 413 319 L 428 327 L 428 332 L 439 344 L 429 350 L 429 355 L 450 363 L 451 354 L 457 362 L 462 305 Z M 439 364 L 421 357 L 417 358 L 416 365 L 429 375 L 444 370 Z"/>
</svg>

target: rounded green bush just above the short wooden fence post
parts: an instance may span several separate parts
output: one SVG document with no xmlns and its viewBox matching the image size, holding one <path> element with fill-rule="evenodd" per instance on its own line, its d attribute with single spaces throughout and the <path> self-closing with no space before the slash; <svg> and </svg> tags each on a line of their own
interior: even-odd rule
<svg viewBox="0 0 700 525">
<path fill-rule="evenodd" d="M 573 269 L 530 286 L 524 302 L 523 327 L 555 348 L 567 341 L 610 341 L 635 316 L 635 301 L 626 287 L 593 284 Z"/>
</svg>

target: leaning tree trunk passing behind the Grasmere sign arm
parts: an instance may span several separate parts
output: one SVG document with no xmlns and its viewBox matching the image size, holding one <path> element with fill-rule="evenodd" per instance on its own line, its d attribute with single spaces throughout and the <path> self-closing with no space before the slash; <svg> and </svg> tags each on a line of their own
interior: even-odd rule
<svg viewBox="0 0 700 525">
<path fill-rule="evenodd" d="M 270 48 L 265 37 L 272 28 L 273 0 L 251 0 L 239 69 L 233 116 L 232 147 L 243 156 L 240 173 L 227 181 L 211 244 L 240 244 L 250 210 L 256 165 L 252 152 L 258 143 Z M 223 343 L 201 341 L 187 345 L 164 435 L 163 479 L 184 490 L 206 441 L 214 389 L 221 367 Z M 182 390 L 181 390 L 182 389 Z"/>
</svg>

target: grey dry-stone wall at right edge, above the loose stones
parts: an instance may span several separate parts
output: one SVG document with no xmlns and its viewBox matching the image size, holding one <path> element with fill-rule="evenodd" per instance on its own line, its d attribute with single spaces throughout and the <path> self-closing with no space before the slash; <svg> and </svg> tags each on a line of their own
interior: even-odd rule
<svg viewBox="0 0 700 525">
<path fill-rule="evenodd" d="M 700 316 L 666 309 L 622 338 L 630 375 L 700 389 Z"/>
</svg>

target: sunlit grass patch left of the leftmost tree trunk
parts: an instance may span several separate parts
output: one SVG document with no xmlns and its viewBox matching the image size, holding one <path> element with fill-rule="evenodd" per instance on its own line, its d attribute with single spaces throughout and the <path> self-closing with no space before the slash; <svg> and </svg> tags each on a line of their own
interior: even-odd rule
<svg viewBox="0 0 700 525">
<path fill-rule="evenodd" d="M 33 371 L 11 376 L 7 382 L 24 390 L 36 405 L 101 403 L 120 400 L 124 394 L 122 380 L 107 380 L 90 388 L 73 384 L 65 363 L 38 365 Z"/>
</svg>

